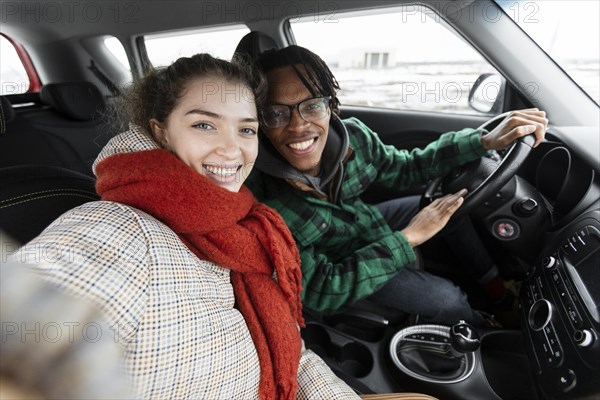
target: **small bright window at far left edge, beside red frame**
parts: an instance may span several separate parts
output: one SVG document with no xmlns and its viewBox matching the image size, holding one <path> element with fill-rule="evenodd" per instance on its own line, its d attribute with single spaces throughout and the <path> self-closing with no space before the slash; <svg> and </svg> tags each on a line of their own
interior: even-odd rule
<svg viewBox="0 0 600 400">
<path fill-rule="evenodd" d="M 31 87 L 29 76 L 13 44 L 0 35 L 0 95 L 26 93 Z"/>
</svg>

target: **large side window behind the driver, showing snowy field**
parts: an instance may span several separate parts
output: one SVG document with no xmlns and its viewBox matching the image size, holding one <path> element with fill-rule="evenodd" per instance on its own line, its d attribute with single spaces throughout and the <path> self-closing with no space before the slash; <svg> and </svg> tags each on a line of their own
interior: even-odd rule
<svg viewBox="0 0 600 400">
<path fill-rule="evenodd" d="M 482 114 L 469 106 L 469 91 L 482 74 L 497 72 L 432 10 L 321 17 L 290 25 L 298 45 L 329 64 L 342 105 Z M 500 85 L 488 89 L 497 96 Z"/>
</svg>

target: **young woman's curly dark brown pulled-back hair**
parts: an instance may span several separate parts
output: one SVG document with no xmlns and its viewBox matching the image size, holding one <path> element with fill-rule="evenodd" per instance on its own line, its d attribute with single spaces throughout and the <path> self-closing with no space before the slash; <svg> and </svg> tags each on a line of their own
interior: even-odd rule
<svg viewBox="0 0 600 400">
<path fill-rule="evenodd" d="M 182 57 L 168 67 L 152 69 L 134 82 L 119 99 L 121 118 L 153 135 L 150 120 L 164 122 L 177 106 L 187 84 L 202 77 L 221 78 L 247 86 L 257 109 L 261 109 L 266 100 L 266 81 L 259 70 L 241 60 L 229 62 L 202 53 Z"/>
</svg>

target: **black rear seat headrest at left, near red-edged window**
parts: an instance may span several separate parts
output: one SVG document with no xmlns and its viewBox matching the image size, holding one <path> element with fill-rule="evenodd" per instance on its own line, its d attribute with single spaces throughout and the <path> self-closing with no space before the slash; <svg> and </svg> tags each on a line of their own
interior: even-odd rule
<svg viewBox="0 0 600 400">
<path fill-rule="evenodd" d="M 66 117 L 89 121 L 104 108 L 104 97 L 91 82 L 48 83 L 40 92 L 42 101 Z"/>
</svg>

